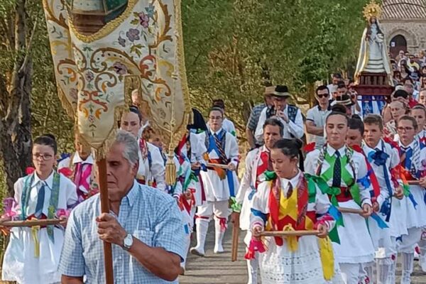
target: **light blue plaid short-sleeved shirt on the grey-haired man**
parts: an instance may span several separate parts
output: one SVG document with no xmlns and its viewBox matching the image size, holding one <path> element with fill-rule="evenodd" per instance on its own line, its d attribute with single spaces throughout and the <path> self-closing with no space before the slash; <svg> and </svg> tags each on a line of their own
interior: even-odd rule
<svg viewBox="0 0 426 284">
<path fill-rule="evenodd" d="M 99 194 L 71 212 L 59 263 L 62 275 L 86 275 L 86 283 L 105 283 L 104 249 L 95 222 L 100 212 Z M 129 234 L 146 245 L 162 247 L 185 258 L 184 226 L 173 197 L 135 181 L 121 200 L 117 219 Z M 121 246 L 112 245 L 112 256 L 114 283 L 170 283 L 149 272 Z"/>
</svg>

